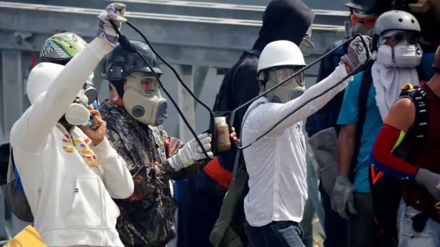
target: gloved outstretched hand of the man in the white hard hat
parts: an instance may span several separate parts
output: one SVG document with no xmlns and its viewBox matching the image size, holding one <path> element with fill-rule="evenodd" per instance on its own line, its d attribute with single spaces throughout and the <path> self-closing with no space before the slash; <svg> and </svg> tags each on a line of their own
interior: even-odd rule
<svg viewBox="0 0 440 247">
<path fill-rule="evenodd" d="M 371 37 L 362 36 L 362 39 L 368 48 L 371 47 Z M 354 71 L 366 63 L 367 54 L 369 54 L 369 57 L 371 58 L 370 48 L 365 49 L 361 37 L 356 37 L 351 41 L 349 48 L 347 49 L 347 54 L 341 57 L 341 61 L 347 64 L 351 71 Z"/>
</svg>

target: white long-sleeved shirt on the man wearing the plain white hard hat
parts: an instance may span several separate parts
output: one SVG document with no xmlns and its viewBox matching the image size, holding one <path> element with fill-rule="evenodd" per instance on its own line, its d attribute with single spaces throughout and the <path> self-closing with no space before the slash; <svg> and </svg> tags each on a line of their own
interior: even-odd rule
<svg viewBox="0 0 440 247">
<path fill-rule="evenodd" d="M 329 77 L 286 104 L 271 103 L 265 97 L 257 99 L 249 110 L 259 102 L 265 104 L 256 106 L 247 113 L 248 117 L 241 130 L 243 145 L 254 141 L 298 106 L 331 89 L 345 76 L 345 66 L 339 65 Z M 265 137 L 243 150 L 250 189 L 244 200 L 244 208 L 246 220 L 251 226 L 265 226 L 274 221 L 303 220 L 307 200 L 307 165 L 302 121 L 325 106 L 352 79 L 345 80 L 312 100 Z"/>
</svg>

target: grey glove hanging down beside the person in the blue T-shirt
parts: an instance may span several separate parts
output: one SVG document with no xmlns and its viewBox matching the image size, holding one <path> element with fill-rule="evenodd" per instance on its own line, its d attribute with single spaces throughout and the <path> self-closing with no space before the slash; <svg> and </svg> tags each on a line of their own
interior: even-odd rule
<svg viewBox="0 0 440 247">
<path fill-rule="evenodd" d="M 347 209 L 351 214 L 358 213 L 355 209 L 354 192 L 355 187 L 350 183 L 347 176 L 341 175 L 336 178 L 336 184 L 333 193 L 331 193 L 331 209 L 338 212 L 345 220 L 350 219 L 347 215 Z"/>
</svg>

